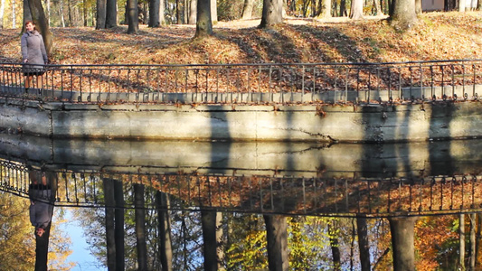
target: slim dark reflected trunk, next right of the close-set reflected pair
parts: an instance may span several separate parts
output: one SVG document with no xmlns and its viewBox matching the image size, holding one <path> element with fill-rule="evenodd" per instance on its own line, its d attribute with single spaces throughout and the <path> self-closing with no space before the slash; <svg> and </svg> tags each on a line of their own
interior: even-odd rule
<svg viewBox="0 0 482 271">
<path fill-rule="evenodd" d="M 134 204 L 136 207 L 136 239 L 138 270 L 147 270 L 146 210 L 144 209 L 144 185 L 134 184 Z"/>
</svg>

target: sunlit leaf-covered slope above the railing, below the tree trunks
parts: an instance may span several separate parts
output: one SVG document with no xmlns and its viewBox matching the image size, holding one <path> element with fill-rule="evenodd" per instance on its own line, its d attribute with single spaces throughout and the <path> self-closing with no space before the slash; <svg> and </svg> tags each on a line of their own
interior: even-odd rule
<svg viewBox="0 0 482 271">
<path fill-rule="evenodd" d="M 199 64 L 391 62 L 480 59 L 482 13 L 427 13 L 401 32 L 386 17 L 353 22 L 287 18 L 271 29 L 260 19 L 219 22 L 214 36 L 194 40 L 195 25 L 52 27 L 57 64 Z M 0 62 L 20 61 L 20 30 L 0 31 Z"/>
</svg>

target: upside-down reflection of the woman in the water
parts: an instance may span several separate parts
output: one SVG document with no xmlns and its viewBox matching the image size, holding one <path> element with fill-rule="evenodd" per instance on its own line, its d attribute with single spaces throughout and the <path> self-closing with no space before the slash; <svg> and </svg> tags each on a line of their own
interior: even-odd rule
<svg viewBox="0 0 482 271">
<path fill-rule="evenodd" d="M 45 173 L 31 172 L 30 179 L 30 222 L 35 227 L 35 235 L 42 237 L 52 220 L 52 187 L 47 183 Z"/>
</svg>

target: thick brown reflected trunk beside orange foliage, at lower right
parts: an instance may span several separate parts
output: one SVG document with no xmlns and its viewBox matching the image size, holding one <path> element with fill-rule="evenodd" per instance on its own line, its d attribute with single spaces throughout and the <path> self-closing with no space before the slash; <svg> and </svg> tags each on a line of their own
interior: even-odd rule
<svg viewBox="0 0 482 271">
<path fill-rule="evenodd" d="M 414 217 L 390 218 L 394 271 L 415 270 Z"/>
</svg>

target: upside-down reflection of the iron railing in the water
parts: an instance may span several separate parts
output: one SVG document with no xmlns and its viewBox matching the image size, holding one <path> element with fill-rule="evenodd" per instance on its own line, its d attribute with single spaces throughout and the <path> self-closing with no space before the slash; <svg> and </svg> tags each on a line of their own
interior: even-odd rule
<svg viewBox="0 0 482 271">
<path fill-rule="evenodd" d="M 0 191 L 28 197 L 24 164 L 0 161 Z M 117 185 L 119 208 L 159 208 L 157 192 L 171 197 L 169 210 L 220 210 L 316 216 L 390 217 L 482 210 L 480 174 L 413 178 L 315 178 L 293 176 L 43 171 L 55 188 L 57 206 L 109 207 Z M 134 186 L 143 188 L 137 206 Z M 107 195 L 109 193 L 109 195 Z M 114 207 L 114 206 L 110 206 Z"/>
</svg>

